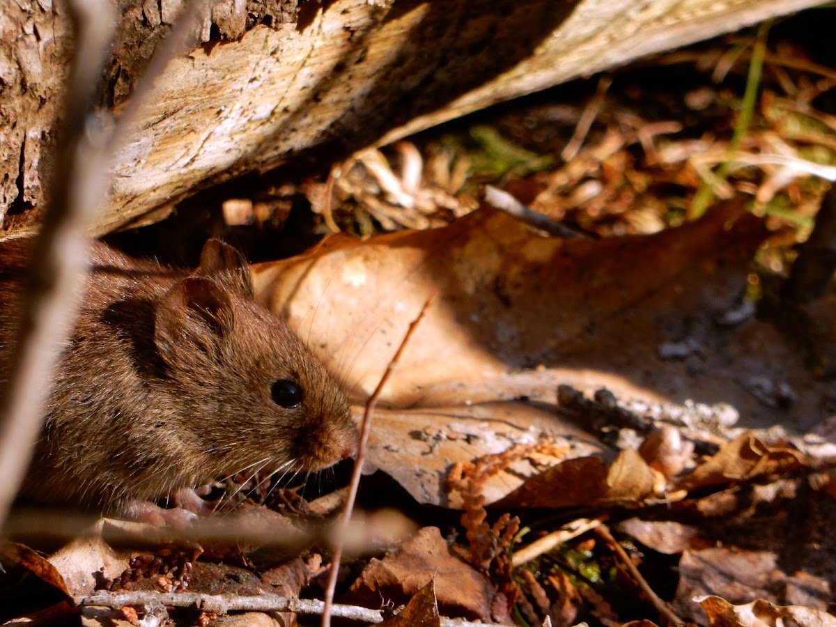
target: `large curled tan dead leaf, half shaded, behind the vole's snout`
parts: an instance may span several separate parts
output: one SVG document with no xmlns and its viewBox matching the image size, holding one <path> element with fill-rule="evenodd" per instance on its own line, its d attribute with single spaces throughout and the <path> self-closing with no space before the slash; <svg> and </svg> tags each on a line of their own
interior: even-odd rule
<svg viewBox="0 0 836 627">
<path fill-rule="evenodd" d="M 314 252 L 257 265 L 254 276 L 263 302 L 361 400 L 431 295 L 438 298 L 386 386 L 384 404 L 518 395 L 553 402 L 558 383 L 661 400 L 683 369 L 658 359 L 656 347 L 688 314 L 710 315 L 734 302 L 764 234 L 757 218 L 729 206 L 653 236 L 598 241 L 540 237 L 482 209 L 438 229 L 364 241 L 331 237 Z M 538 364 L 546 385 L 533 389 L 526 376 L 508 376 Z M 711 378 L 740 396 L 728 379 Z"/>
</svg>

